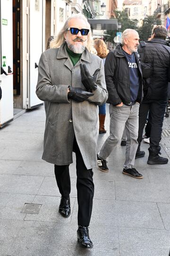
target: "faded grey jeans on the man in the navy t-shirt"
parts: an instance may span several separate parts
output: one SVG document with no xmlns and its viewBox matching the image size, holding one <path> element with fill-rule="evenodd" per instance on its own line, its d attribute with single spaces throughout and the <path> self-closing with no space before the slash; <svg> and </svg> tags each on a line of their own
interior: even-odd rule
<svg viewBox="0 0 170 256">
<path fill-rule="evenodd" d="M 126 160 L 124 168 L 132 168 L 135 162 L 135 155 L 138 146 L 138 113 L 139 103 L 128 107 L 116 107 L 110 104 L 110 136 L 106 139 L 99 152 L 99 157 L 106 160 L 111 151 L 121 140 L 123 131 L 126 126 L 127 145 L 126 145 Z"/>
</svg>

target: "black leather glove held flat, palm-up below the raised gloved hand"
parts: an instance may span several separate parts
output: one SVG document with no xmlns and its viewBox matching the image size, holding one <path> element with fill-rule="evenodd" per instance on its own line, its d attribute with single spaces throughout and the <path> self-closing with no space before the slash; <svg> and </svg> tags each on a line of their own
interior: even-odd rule
<svg viewBox="0 0 170 256">
<path fill-rule="evenodd" d="M 93 95 L 94 95 L 93 93 L 84 91 L 80 87 L 69 86 L 68 99 L 72 99 L 78 102 L 83 102 Z"/>
</svg>

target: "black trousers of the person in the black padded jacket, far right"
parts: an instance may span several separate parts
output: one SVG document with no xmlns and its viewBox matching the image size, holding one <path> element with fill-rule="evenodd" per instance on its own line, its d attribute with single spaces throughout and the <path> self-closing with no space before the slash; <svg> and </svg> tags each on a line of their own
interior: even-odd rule
<svg viewBox="0 0 170 256">
<path fill-rule="evenodd" d="M 163 117 L 165 114 L 167 101 L 153 101 L 153 102 L 142 102 L 139 107 L 139 130 L 138 130 L 138 149 L 140 150 L 140 145 L 143 136 L 144 125 L 147 119 L 147 114 L 150 114 L 151 123 L 151 134 L 150 134 L 150 146 L 158 147 L 161 141 L 161 132 L 163 125 Z"/>
</svg>

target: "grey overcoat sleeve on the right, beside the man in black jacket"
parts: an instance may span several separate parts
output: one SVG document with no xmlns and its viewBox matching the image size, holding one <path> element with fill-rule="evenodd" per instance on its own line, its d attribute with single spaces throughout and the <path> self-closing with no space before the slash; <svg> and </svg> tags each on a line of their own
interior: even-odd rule
<svg viewBox="0 0 170 256">
<path fill-rule="evenodd" d="M 104 77 L 104 65 L 103 61 L 101 59 L 100 63 L 100 72 L 97 77 L 97 89 L 93 91 L 94 95 L 89 97 L 87 101 L 93 102 L 96 105 L 103 105 L 108 98 L 108 91 L 106 89 L 106 82 Z"/>
</svg>

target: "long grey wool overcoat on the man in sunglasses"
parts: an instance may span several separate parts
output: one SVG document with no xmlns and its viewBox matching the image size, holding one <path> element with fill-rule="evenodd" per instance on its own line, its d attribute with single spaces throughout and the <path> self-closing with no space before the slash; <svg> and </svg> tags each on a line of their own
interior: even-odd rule
<svg viewBox="0 0 170 256">
<path fill-rule="evenodd" d="M 84 102 L 68 100 L 68 86 L 81 87 L 80 63 L 86 64 L 93 75 L 97 68 L 97 90 Z M 42 159 L 55 165 L 73 162 L 74 136 L 87 169 L 96 166 L 97 137 L 99 132 L 98 107 L 106 102 L 108 92 L 102 59 L 85 48 L 80 60 L 73 66 L 65 43 L 60 48 L 42 53 L 38 65 L 36 94 L 47 101 L 46 124 Z"/>
</svg>

